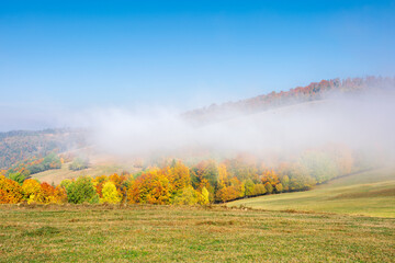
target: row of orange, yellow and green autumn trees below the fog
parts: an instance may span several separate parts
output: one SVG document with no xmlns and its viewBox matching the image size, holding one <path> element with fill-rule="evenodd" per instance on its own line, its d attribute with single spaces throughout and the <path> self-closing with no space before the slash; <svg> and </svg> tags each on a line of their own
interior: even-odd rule
<svg viewBox="0 0 395 263">
<path fill-rule="evenodd" d="M 0 175 L 0 203 L 207 205 L 305 191 L 356 169 L 349 149 L 327 147 L 305 151 L 293 161 L 272 167 L 248 155 L 190 165 L 173 159 L 135 174 L 79 176 L 59 185 L 34 179 L 18 182 Z"/>
</svg>

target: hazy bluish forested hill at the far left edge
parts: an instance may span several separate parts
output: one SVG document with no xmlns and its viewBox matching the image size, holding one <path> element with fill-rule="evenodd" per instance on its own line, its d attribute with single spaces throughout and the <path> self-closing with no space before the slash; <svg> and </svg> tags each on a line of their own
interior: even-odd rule
<svg viewBox="0 0 395 263">
<path fill-rule="evenodd" d="M 12 130 L 0 133 L 0 169 L 33 156 L 46 156 L 84 145 L 81 129 Z"/>
</svg>

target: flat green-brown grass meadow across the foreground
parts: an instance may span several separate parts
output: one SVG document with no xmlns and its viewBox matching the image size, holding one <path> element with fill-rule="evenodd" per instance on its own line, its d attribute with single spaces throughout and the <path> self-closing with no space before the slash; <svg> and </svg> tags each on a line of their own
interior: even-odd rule
<svg viewBox="0 0 395 263">
<path fill-rule="evenodd" d="M 0 206 L 1 262 L 391 262 L 395 219 L 214 207 Z"/>
</svg>

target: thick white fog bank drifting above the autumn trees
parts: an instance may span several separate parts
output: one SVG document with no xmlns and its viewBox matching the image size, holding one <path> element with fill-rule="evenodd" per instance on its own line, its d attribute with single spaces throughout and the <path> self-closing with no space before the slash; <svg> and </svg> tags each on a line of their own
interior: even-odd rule
<svg viewBox="0 0 395 263">
<path fill-rule="evenodd" d="M 126 111 L 92 110 L 75 119 L 87 126 L 89 141 L 105 155 L 122 158 L 172 156 L 188 150 L 216 155 L 249 152 L 268 156 L 293 155 L 326 144 L 341 144 L 352 150 L 385 152 L 394 160 L 395 95 L 364 93 L 332 94 L 314 101 L 239 116 L 210 125 L 168 108 Z M 179 156 L 178 156 L 179 155 Z"/>
</svg>

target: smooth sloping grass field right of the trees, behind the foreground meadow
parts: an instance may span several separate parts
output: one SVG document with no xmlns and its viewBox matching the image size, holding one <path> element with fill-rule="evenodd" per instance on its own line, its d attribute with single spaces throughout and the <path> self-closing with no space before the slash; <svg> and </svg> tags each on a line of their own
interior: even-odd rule
<svg viewBox="0 0 395 263">
<path fill-rule="evenodd" d="M 312 191 L 239 199 L 227 206 L 395 218 L 395 170 L 363 172 L 334 180 Z"/>
</svg>

